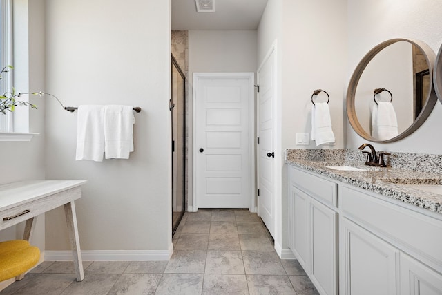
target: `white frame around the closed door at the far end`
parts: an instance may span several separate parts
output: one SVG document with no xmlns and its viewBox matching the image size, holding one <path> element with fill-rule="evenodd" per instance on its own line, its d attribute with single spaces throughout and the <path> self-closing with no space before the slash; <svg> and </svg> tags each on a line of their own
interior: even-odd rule
<svg viewBox="0 0 442 295">
<path fill-rule="evenodd" d="M 193 73 L 193 91 L 192 91 L 192 132 L 193 132 L 193 149 L 192 149 L 192 211 L 198 211 L 198 198 L 196 196 L 197 178 L 196 178 L 196 167 L 197 167 L 197 151 L 195 147 L 197 146 L 196 137 L 196 99 L 198 89 L 198 82 L 204 79 L 247 79 L 249 80 L 249 211 L 256 211 L 256 178 L 255 178 L 255 73 Z"/>
</svg>

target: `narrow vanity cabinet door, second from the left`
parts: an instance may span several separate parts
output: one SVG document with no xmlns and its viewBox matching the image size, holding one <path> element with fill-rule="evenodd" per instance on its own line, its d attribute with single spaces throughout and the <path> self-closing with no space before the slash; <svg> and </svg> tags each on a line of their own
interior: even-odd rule
<svg viewBox="0 0 442 295">
<path fill-rule="evenodd" d="M 310 198 L 311 280 L 320 294 L 337 294 L 338 213 Z"/>
</svg>

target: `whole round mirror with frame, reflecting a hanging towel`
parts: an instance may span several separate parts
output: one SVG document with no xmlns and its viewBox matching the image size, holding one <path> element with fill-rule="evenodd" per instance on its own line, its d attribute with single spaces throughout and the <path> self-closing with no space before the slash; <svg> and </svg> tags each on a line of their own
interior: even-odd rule
<svg viewBox="0 0 442 295">
<path fill-rule="evenodd" d="M 437 101 L 434 59 L 431 48 L 410 39 L 391 39 L 370 50 L 347 89 L 354 131 L 372 142 L 394 142 L 418 129 Z"/>
</svg>

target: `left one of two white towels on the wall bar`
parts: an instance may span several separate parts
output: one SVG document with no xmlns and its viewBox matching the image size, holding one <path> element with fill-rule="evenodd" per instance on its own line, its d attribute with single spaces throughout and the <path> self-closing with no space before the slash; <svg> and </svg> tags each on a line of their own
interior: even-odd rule
<svg viewBox="0 0 442 295">
<path fill-rule="evenodd" d="M 103 106 L 79 106 L 75 160 L 102 162 L 104 153 Z"/>
</svg>

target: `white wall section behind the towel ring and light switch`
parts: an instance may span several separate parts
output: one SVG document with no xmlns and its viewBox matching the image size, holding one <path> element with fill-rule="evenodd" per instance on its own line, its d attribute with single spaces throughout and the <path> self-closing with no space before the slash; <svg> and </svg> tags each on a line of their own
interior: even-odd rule
<svg viewBox="0 0 442 295">
<path fill-rule="evenodd" d="M 269 0 L 258 28 L 258 64 L 273 40 L 278 44 L 278 135 L 280 187 L 277 220 L 280 232 L 275 242 L 287 248 L 287 165 L 286 149 L 296 146 L 296 133 L 311 132 L 311 95 L 321 88 L 330 95 L 329 108 L 336 137 L 334 148 L 343 148 L 343 98 L 345 89 L 347 1 Z M 322 148 L 322 146 L 319 146 Z"/>
</svg>

